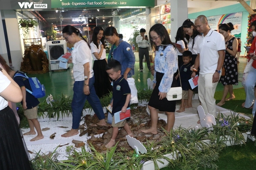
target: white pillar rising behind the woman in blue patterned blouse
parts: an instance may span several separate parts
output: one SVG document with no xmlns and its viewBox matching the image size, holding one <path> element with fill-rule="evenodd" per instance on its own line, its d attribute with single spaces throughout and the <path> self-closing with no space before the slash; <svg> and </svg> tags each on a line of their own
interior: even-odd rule
<svg viewBox="0 0 256 170">
<path fill-rule="evenodd" d="M 188 0 L 170 0 L 171 3 L 171 41 L 175 42 L 176 33 L 188 19 Z"/>
</svg>

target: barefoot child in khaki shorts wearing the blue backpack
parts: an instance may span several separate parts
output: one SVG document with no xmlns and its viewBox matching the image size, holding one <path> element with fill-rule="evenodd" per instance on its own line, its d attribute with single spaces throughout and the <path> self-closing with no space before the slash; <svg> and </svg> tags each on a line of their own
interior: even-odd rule
<svg viewBox="0 0 256 170">
<path fill-rule="evenodd" d="M 43 139 L 44 136 L 41 131 L 40 123 L 38 121 L 38 104 L 40 103 L 37 98 L 35 98 L 30 92 L 32 91 L 32 88 L 30 86 L 30 82 L 27 76 L 21 72 L 16 71 L 14 73 L 14 81 L 20 86 L 21 92 L 22 92 L 22 101 L 20 102 L 22 104 L 22 107 L 24 109 L 24 115 L 28 119 L 28 124 L 30 127 L 30 131 L 27 133 L 24 133 L 23 135 L 35 135 L 36 132 L 34 130 L 34 127 L 37 131 L 37 136 L 33 139 L 30 139 L 30 141 L 37 141 L 39 139 Z M 28 90 L 30 92 L 28 92 Z"/>
</svg>

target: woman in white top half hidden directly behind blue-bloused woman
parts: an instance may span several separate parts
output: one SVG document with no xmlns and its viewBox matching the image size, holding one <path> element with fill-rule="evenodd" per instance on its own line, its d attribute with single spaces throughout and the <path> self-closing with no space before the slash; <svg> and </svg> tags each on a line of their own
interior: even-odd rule
<svg viewBox="0 0 256 170">
<path fill-rule="evenodd" d="M 180 66 L 182 64 L 182 53 L 188 48 L 187 42 L 185 41 L 185 35 L 182 27 L 179 27 L 177 30 L 175 43 L 181 46 L 181 48 L 177 48 L 177 45 L 176 45 L 176 52 L 178 55 L 178 66 Z"/>
</svg>

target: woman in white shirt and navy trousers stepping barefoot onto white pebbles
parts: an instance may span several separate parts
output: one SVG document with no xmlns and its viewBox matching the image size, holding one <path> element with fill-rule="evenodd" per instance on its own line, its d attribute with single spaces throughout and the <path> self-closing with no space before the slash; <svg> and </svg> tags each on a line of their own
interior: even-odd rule
<svg viewBox="0 0 256 170">
<path fill-rule="evenodd" d="M 105 115 L 100 104 L 100 99 L 96 95 L 94 89 L 94 72 L 92 70 L 92 53 L 90 45 L 83 38 L 79 29 L 72 25 L 66 25 L 62 29 L 63 38 L 70 44 L 74 44 L 72 58 L 69 58 L 69 63 L 72 62 L 74 74 L 74 96 L 71 103 L 72 108 L 72 129 L 61 135 L 62 137 L 70 137 L 78 134 L 80 125 L 81 113 L 84 109 L 84 104 L 88 100 L 92 106 L 94 113 L 97 115 L 100 122 L 97 125 L 104 126 Z"/>
</svg>

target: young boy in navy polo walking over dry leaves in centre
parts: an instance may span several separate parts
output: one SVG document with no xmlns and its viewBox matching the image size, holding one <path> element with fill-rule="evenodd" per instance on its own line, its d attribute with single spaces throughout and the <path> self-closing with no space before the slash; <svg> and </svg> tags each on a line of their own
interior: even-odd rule
<svg viewBox="0 0 256 170">
<path fill-rule="evenodd" d="M 117 60 L 108 62 L 106 66 L 106 72 L 113 79 L 113 100 L 110 104 L 112 107 L 112 127 L 113 133 L 110 142 L 106 145 L 107 148 L 111 148 L 116 142 L 118 135 L 118 127 L 124 127 L 124 130 L 130 137 L 133 137 L 132 131 L 126 123 L 126 119 L 115 124 L 114 113 L 118 111 L 126 112 L 126 109 L 130 107 L 131 90 L 127 80 L 121 75 L 121 64 Z"/>
</svg>

